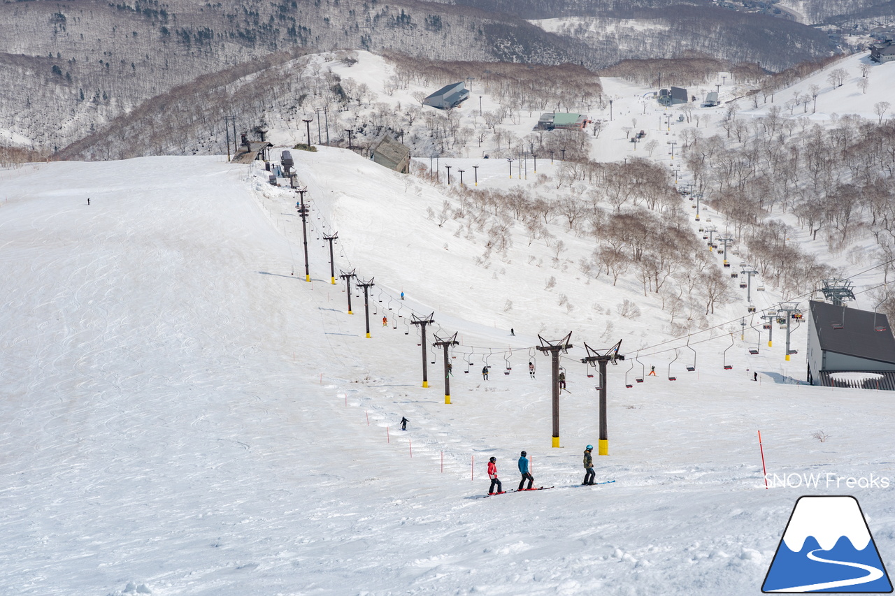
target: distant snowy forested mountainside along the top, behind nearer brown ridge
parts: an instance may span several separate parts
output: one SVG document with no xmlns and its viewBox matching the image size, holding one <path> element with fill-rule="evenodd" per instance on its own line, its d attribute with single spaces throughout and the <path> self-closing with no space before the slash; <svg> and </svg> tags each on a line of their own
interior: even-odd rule
<svg viewBox="0 0 895 596">
<path fill-rule="evenodd" d="M 245 63 L 260 58 L 276 63 L 283 53 L 365 49 L 442 61 L 590 69 L 626 58 L 699 53 L 773 71 L 834 49 L 823 32 L 792 21 L 703 3 L 668 4 L 616 2 L 601 4 L 599 13 L 575 3 L 511 10 L 505 3 L 473 7 L 414 0 L 0 4 L 0 76 L 16 81 L 0 90 L 0 144 L 50 154 L 150 98 L 183 86 L 202 89 L 201 77 L 219 73 L 226 79 L 236 67 L 251 70 Z M 592 13 L 592 20 L 520 18 L 583 13 Z M 265 57 L 270 54 L 280 57 Z"/>
</svg>

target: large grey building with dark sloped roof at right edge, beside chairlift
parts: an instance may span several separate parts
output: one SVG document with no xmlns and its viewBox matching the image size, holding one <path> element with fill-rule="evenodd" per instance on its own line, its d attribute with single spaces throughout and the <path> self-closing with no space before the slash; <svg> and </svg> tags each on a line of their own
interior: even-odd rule
<svg viewBox="0 0 895 596">
<path fill-rule="evenodd" d="M 842 387 L 831 374 L 869 372 L 878 373 L 874 382 L 849 386 L 895 390 L 895 336 L 884 314 L 814 300 L 808 305 L 809 383 Z"/>
</svg>

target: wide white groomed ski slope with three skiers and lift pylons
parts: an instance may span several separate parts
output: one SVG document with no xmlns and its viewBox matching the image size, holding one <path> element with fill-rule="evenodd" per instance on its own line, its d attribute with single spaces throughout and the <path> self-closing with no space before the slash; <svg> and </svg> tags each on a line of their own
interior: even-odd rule
<svg viewBox="0 0 895 596">
<path fill-rule="evenodd" d="M 683 350 L 669 369 L 657 349 L 641 357 L 657 377 L 630 389 L 629 362 L 610 367 L 610 455 L 594 460 L 597 481 L 617 482 L 583 490 L 596 378 L 571 357 L 582 341 L 625 338 L 629 353 L 667 339 L 652 297 L 641 319 L 621 319 L 615 304 L 639 288 L 575 285 L 534 244 L 476 267 L 481 236 L 426 219 L 442 200 L 431 187 L 343 150 L 293 155 L 312 283 L 294 193 L 245 166 L 0 173 L 0 593 L 756 594 L 803 494 L 855 495 L 893 559 L 895 481 L 845 484 L 895 478 L 891 396 L 788 384 L 804 364 L 781 368 L 778 341 L 749 356 L 737 336 L 733 370 L 721 367 L 728 339 L 700 348 L 695 372 Z M 375 277 L 369 339 L 362 299 L 349 315 L 329 284 L 321 230 L 338 231 L 340 268 Z M 577 310 L 544 291 L 550 275 Z M 440 356 L 422 387 L 411 311 L 434 311 L 427 338 L 463 338 L 452 404 Z M 531 358 L 530 379 L 528 346 L 569 330 L 563 447 L 551 448 L 548 359 Z M 487 382 L 482 351 L 464 372 L 470 345 L 492 348 Z M 757 430 L 769 473 L 824 474 L 818 488 L 765 490 Z M 556 488 L 478 498 L 489 456 L 515 488 L 523 449 L 535 482 Z"/>
</svg>

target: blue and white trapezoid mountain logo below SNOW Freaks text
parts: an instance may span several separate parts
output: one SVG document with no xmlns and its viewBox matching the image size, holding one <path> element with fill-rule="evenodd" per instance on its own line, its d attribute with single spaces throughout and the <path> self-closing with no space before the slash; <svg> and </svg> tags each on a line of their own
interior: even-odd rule
<svg viewBox="0 0 895 596">
<path fill-rule="evenodd" d="M 762 592 L 892 592 L 857 498 L 799 498 Z"/>
</svg>

